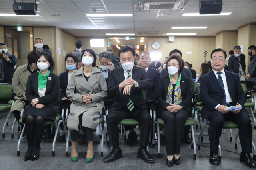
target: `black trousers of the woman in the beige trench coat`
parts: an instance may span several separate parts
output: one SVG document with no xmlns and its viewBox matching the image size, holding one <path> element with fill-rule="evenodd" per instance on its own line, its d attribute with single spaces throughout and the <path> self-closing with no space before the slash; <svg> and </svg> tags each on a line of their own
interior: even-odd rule
<svg viewBox="0 0 256 170">
<path fill-rule="evenodd" d="M 78 119 L 79 119 L 79 125 L 78 128 L 81 127 L 82 125 L 82 118 L 83 118 L 83 114 L 80 114 Z M 93 141 L 93 131 L 91 128 L 88 127 L 83 127 L 84 128 L 84 135 L 85 135 L 85 140 L 86 141 Z M 79 131 L 71 131 L 71 141 L 77 141 L 79 136 Z"/>
</svg>

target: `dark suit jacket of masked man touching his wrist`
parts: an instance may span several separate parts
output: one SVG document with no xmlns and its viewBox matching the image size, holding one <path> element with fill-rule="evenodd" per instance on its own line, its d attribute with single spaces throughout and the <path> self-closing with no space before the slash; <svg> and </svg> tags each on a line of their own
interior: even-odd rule
<svg viewBox="0 0 256 170">
<path fill-rule="evenodd" d="M 146 70 L 136 66 L 132 68 L 132 79 L 138 82 L 139 88 L 132 86 L 130 95 L 123 94 L 124 88 L 119 92 L 119 84 L 122 83 L 124 79 L 124 69 L 122 67 L 111 71 L 107 94 L 110 98 L 115 97 L 115 102 L 112 104 L 109 111 L 123 108 L 128 104 L 129 98 L 131 98 L 132 102 L 138 107 L 148 111 L 146 101 L 143 98 L 142 89 L 151 90 L 153 83 L 150 78 L 148 78 Z"/>
</svg>

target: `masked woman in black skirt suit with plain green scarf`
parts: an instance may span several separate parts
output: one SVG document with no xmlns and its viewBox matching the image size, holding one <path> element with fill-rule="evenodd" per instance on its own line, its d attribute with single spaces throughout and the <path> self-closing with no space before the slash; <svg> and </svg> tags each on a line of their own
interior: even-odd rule
<svg viewBox="0 0 256 170">
<path fill-rule="evenodd" d="M 53 66 L 54 61 L 49 53 L 39 53 L 37 56 L 39 71 L 28 76 L 25 96 L 31 103 L 26 107 L 22 117 L 22 121 L 26 123 L 25 133 L 28 141 L 25 161 L 39 158 L 44 122 L 49 119 L 54 121 L 60 111 L 57 99 L 60 80 L 59 76 L 50 72 Z"/>
</svg>

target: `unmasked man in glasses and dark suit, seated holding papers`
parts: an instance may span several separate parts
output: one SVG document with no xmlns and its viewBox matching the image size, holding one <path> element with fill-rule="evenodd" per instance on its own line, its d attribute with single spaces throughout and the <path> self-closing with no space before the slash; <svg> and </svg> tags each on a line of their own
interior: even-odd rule
<svg viewBox="0 0 256 170">
<path fill-rule="evenodd" d="M 252 127 L 251 120 L 244 108 L 245 94 L 238 74 L 224 70 L 226 51 L 215 49 L 211 53 L 212 71 L 200 76 L 200 98 L 204 104 L 202 117 L 208 118 L 210 159 L 213 165 L 219 165 L 219 138 L 224 121 L 234 121 L 238 125 L 242 147 L 240 161 L 250 168 L 256 168 L 252 160 Z M 227 111 L 230 106 L 242 107 L 236 111 Z"/>
</svg>

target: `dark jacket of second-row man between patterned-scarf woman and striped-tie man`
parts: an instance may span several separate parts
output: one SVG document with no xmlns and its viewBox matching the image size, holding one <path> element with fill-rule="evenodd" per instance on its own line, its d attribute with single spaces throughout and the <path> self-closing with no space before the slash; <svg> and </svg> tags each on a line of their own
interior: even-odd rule
<svg viewBox="0 0 256 170">
<path fill-rule="evenodd" d="M 160 74 L 158 71 L 153 68 L 148 67 L 148 78 L 153 82 L 153 88 L 151 90 L 147 90 L 148 100 L 156 99 L 157 86 L 160 79 Z"/>
</svg>

